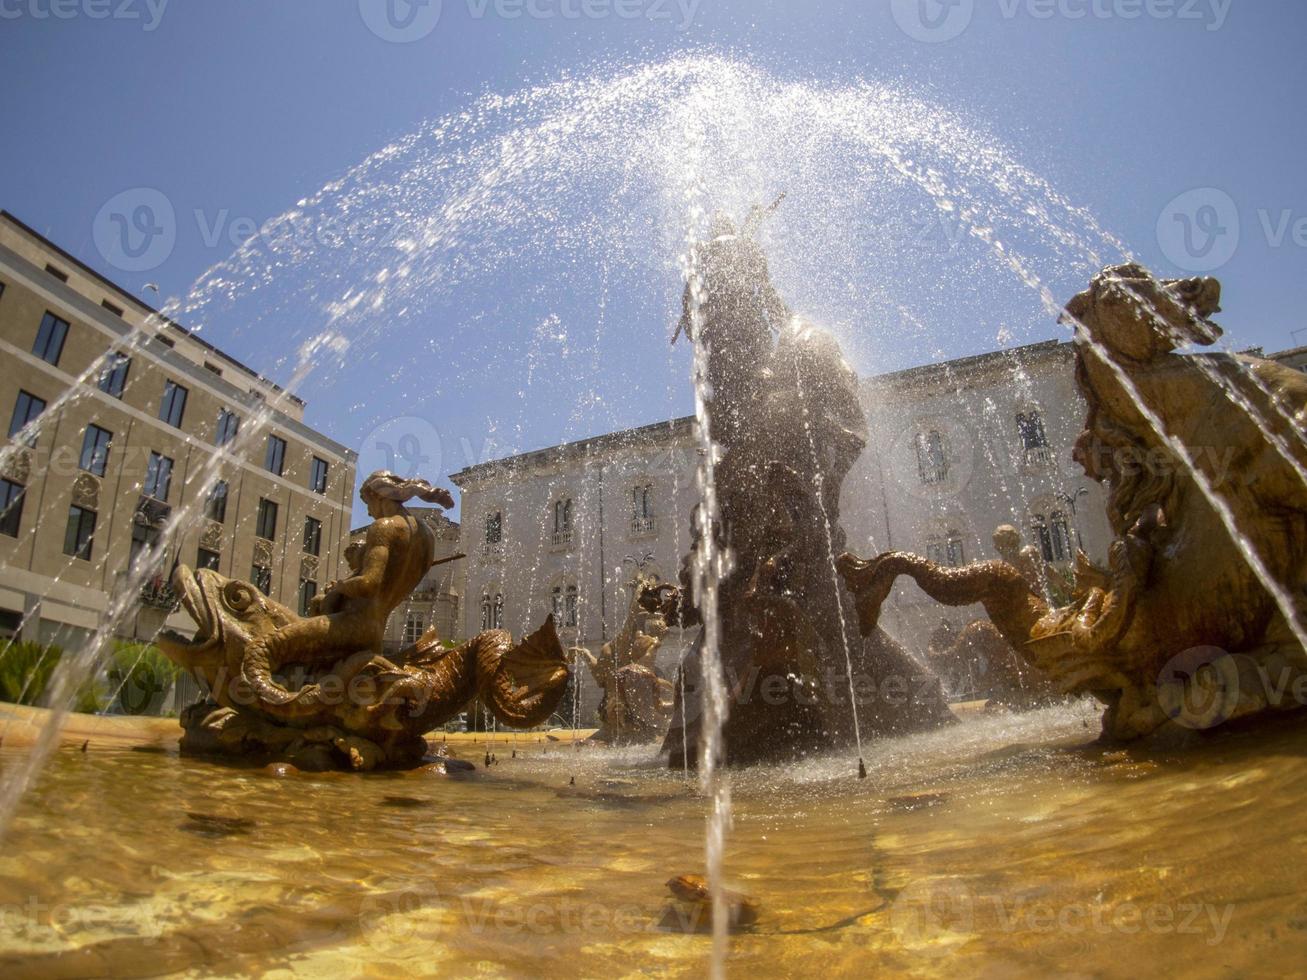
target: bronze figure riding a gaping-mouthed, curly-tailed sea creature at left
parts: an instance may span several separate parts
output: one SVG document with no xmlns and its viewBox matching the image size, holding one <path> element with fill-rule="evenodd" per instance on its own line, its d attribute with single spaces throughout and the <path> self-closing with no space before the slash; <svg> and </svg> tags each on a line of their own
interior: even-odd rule
<svg viewBox="0 0 1307 980">
<path fill-rule="evenodd" d="M 375 523 L 356 574 L 328 587 L 323 614 L 301 618 L 248 583 L 176 570 L 174 589 L 196 635 L 165 634 L 159 647 L 209 690 L 183 717 L 183 749 L 285 758 L 302 768 L 401 766 L 422 758 L 422 734 L 474 698 L 511 728 L 553 713 L 569 677 L 553 618 L 516 647 L 491 630 L 450 649 L 431 631 L 393 659 L 382 656 L 387 618 L 435 550 L 404 502 L 454 500 L 387 472 L 370 476 L 361 497 Z"/>
</svg>

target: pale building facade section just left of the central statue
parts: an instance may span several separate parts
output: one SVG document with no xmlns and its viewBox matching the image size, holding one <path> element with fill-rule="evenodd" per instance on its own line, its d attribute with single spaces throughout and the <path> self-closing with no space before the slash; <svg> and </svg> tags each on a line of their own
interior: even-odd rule
<svg viewBox="0 0 1307 980">
<path fill-rule="evenodd" d="M 676 580 L 697 469 L 691 419 L 681 418 L 456 473 L 467 635 L 521 636 L 553 613 L 563 645 L 597 651 L 626 621 L 637 570 Z M 676 662 L 681 639 L 673 631 L 660 662 Z"/>
</svg>

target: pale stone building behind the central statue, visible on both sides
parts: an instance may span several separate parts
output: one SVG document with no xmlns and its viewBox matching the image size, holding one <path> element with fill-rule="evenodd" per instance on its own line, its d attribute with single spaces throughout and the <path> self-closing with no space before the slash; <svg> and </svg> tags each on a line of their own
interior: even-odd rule
<svg viewBox="0 0 1307 980">
<path fill-rule="evenodd" d="M 1025 544 L 1069 570 L 1076 549 L 1106 561 L 1103 490 L 1072 461 L 1085 405 L 1074 348 L 1048 341 L 869 378 L 870 439 L 844 482 L 848 549 L 907 550 L 965 564 L 996 558 L 992 536 L 1014 524 Z M 601 435 L 455 474 L 463 490 L 468 635 L 533 630 L 553 610 L 567 645 L 597 649 L 621 629 L 626 581 L 644 561 L 674 580 L 698 500 L 698 447 L 689 418 Z M 886 606 L 884 625 L 924 652 L 948 618 L 915 584 Z M 686 638 L 673 635 L 670 666 Z M 584 695 L 593 708 L 597 695 Z"/>
</svg>

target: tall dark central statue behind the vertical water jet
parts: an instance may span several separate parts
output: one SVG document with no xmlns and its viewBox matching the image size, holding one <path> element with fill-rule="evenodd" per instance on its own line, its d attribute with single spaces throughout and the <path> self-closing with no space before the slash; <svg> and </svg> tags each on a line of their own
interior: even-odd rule
<svg viewBox="0 0 1307 980">
<path fill-rule="evenodd" d="M 771 284 L 754 238 L 763 214 L 755 210 L 744 233 L 714 221 L 682 320 L 693 325 L 701 303 L 690 333 L 707 349 L 710 435 L 720 447 L 712 533 L 735 566 L 719 587 L 719 615 L 732 690 L 723 738 L 737 764 L 848 745 L 855 711 L 861 730 L 876 734 L 953 721 L 938 682 L 886 634 L 859 636 L 852 596 L 834 572 L 831 557 L 844 546 L 840 485 L 865 448 L 867 419 L 839 345 L 791 316 Z M 686 567 L 668 597 L 672 623 L 699 619 L 690 581 Z M 664 741 L 672 766 L 697 755 L 698 657 L 691 651 L 681 668 L 687 703 L 677 704 Z"/>
</svg>

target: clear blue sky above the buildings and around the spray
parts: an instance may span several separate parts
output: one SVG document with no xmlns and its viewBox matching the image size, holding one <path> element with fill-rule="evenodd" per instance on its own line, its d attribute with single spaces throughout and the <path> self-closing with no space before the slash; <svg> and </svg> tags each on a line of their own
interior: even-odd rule
<svg viewBox="0 0 1307 980">
<path fill-rule="evenodd" d="M 401 18 L 430 14 L 396 1 Z M 831 85 L 869 80 L 944 106 L 1004 144 L 1159 273 L 1188 270 L 1175 261 L 1178 243 L 1189 259 L 1180 255 L 1180 265 L 1216 263 L 1226 284 L 1222 323 L 1234 345 L 1281 349 L 1295 344 L 1291 331 L 1307 328 L 1299 314 L 1307 301 L 1307 225 L 1295 225 L 1307 218 L 1307 139 L 1298 105 L 1307 91 L 1302 4 L 621 3 L 644 16 L 618 17 L 608 0 L 589 0 L 586 8 L 582 0 L 536 0 L 536 14 L 545 16 L 518 17 L 505 16 L 520 9 L 512 0 L 444 0 L 430 33 L 393 43 L 365 20 L 372 0 L 363 9 L 359 0 L 63 0 L 63 7 L 56 0 L 64 17 L 54 16 L 51 0 L 0 0 L 0 132 L 7 145 L 0 206 L 124 286 L 139 290 L 153 281 L 163 295 L 184 295 L 240 240 L 239 226 L 233 230 L 237 218 L 263 222 L 282 213 L 376 149 L 467 110 L 485 93 L 710 52 L 780 77 Z M 919 3 L 927 20 L 920 20 Z M 101 18 L 105 10 L 123 16 Z M 603 16 L 563 16 L 578 10 Z M 687 14 L 690 26 L 682 27 Z M 910 35 L 929 34 L 931 24 L 959 33 L 948 41 L 938 31 L 928 41 Z M 140 187 L 156 188 L 175 208 L 176 240 L 157 268 L 124 272 L 97 250 L 94 222 L 115 195 Z M 1218 193 L 1182 197 L 1201 188 Z M 1185 216 L 1168 213 L 1178 199 L 1175 206 L 1188 209 L 1193 225 L 1191 239 L 1178 238 Z M 1172 229 L 1163 240 L 1159 222 Z M 1193 247 L 1193 235 L 1208 235 L 1212 248 Z M 529 280 L 535 273 L 523 274 Z M 600 280 L 597 269 L 591 278 Z M 657 286 L 659 302 L 665 301 L 660 316 L 657 303 L 623 304 L 623 277 L 613 273 L 605 338 L 596 335 L 586 357 L 565 362 L 566 391 L 538 380 L 537 371 L 537 380 L 507 397 L 471 383 L 474 357 L 442 353 L 444 341 L 467 336 L 446 337 L 442 324 L 494 316 L 497 286 L 529 291 L 532 284 L 501 276 L 446 302 L 421 327 L 430 342 L 405 358 L 413 376 L 392 370 L 382 351 L 367 354 L 371 374 L 342 376 L 374 389 L 371 396 L 346 397 L 331 371 L 308 378 L 301 392 L 310 402 L 308 421 L 359 446 L 386 419 L 404 414 L 421 388 L 413 414 L 439 430 L 444 452 L 438 465 L 447 473 L 468 461 L 465 447 L 476 459 L 689 409 L 689 391 L 678 383 L 687 353 L 665 350 L 676 314 L 674 277 Z M 1072 289 L 1072 281 L 1057 287 Z M 600 315 L 596 295 L 548 303 L 558 306 L 562 323 L 580 325 Z M 550 329 L 540 312 L 523 312 L 499 341 L 506 365 L 538 355 L 552 342 L 549 336 L 540 340 Z M 1029 324 L 1018 332 L 1022 341 L 1059 336 L 1035 306 Z M 289 340 L 281 342 L 276 331 L 242 329 L 221 316 L 205 329 L 210 341 L 248 363 L 274 376 L 289 371 Z M 944 333 L 949 340 L 936 346 L 948 355 L 993 346 L 988 327 Z M 1307 333 L 1300 336 L 1307 342 Z M 623 357 L 656 375 L 652 396 L 631 396 L 621 371 L 596 380 L 606 372 L 592 372 L 592 366 Z M 915 349 L 902 357 L 923 359 Z M 860 366 L 902 365 L 872 358 Z"/>
</svg>

